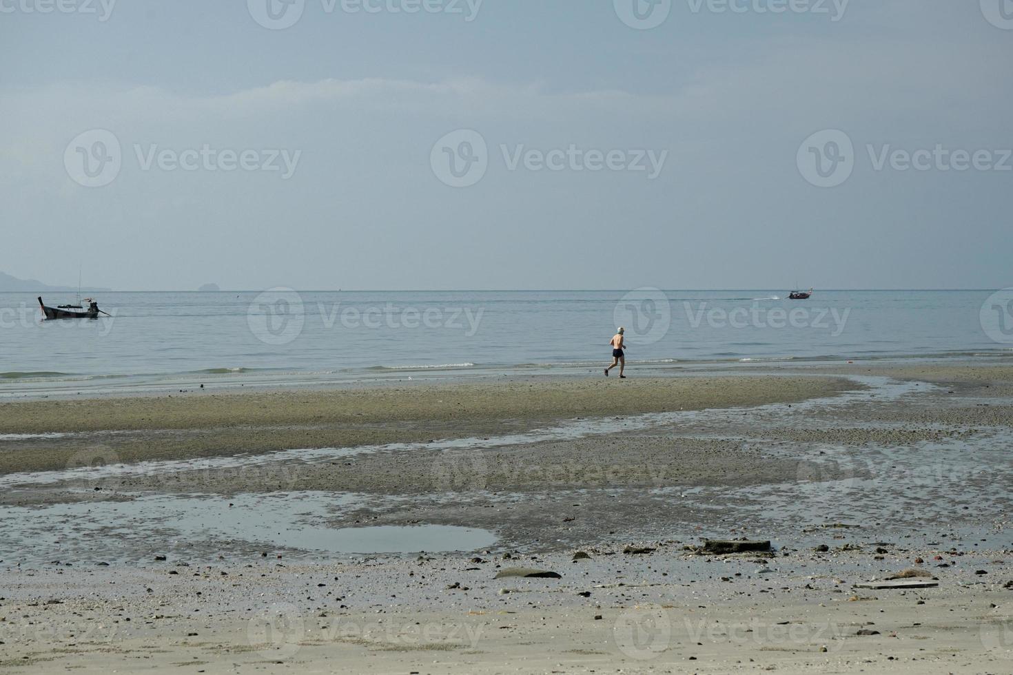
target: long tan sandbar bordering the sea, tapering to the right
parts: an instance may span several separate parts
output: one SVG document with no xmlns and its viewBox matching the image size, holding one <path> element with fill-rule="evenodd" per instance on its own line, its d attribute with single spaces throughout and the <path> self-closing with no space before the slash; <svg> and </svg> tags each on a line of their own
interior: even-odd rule
<svg viewBox="0 0 1013 675">
<path fill-rule="evenodd" d="M 792 403 L 855 385 L 840 377 L 529 377 L 455 386 L 0 404 L 0 434 L 73 433 L 59 442 L 0 441 L 0 476 L 66 468 L 98 448 L 126 462 L 302 447 L 350 447 L 527 431 L 574 417 Z M 96 452 L 96 454 L 99 454 Z"/>
</svg>

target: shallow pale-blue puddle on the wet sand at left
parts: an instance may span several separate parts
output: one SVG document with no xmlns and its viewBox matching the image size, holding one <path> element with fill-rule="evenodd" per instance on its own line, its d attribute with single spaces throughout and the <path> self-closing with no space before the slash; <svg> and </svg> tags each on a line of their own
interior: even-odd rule
<svg viewBox="0 0 1013 675">
<path fill-rule="evenodd" d="M 338 555 L 469 552 L 496 541 L 487 530 L 448 525 L 327 525 L 358 501 L 355 495 L 297 492 L 8 507 L 0 560 L 87 565 L 143 562 L 172 553 L 199 562 L 220 553 L 279 549 Z"/>
</svg>

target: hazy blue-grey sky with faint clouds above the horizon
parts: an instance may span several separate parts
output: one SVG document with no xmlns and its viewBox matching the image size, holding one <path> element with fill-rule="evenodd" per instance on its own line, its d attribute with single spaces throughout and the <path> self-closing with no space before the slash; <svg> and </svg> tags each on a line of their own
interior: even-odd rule
<svg viewBox="0 0 1013 675">
<path fill-rule="evenodd" d="M 0 270 L 1013 286 L 1013 0 L 0 0 Z"/>
</svg>

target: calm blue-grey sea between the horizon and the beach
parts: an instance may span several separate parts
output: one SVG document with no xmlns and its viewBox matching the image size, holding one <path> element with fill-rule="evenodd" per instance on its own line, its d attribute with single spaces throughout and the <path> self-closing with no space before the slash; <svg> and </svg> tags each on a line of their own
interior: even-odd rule
<svg viewBox="0 0 1013 675">
<path fill-rule="evenodd" d="M 1010 353 L 992 291 L 105 292 L 113 315 L 42 321 L 0 293 L 0 395 L 179 383 L 590 371 L 617 324 L 632 364 Z M 1004 298 L 1004 297 L 1003 297 Z M 75 300 L 49 293 L 50 305 Z M 1002 298 L 1000 299 L 1002 300 Z M 984 308 L 984 314 L 983 314 Z M 993 322 L 995 323 L 995 322 Z"/>
</svg>

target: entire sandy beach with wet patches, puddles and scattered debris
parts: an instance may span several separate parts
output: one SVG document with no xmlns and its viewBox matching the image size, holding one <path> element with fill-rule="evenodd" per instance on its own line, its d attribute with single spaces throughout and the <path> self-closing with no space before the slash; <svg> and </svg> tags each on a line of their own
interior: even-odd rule
<svg viewBox="0 0 1013 675">
<path fill-rule="evenodd" d="M 1011 375 L 3 404 L 0 669 L 1010 672 Z"/>
</svg>

